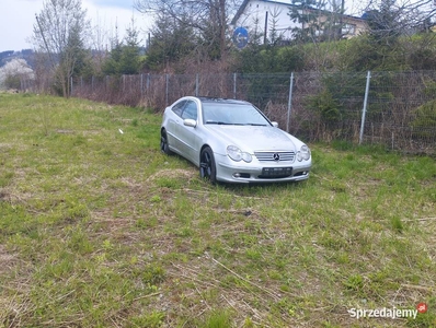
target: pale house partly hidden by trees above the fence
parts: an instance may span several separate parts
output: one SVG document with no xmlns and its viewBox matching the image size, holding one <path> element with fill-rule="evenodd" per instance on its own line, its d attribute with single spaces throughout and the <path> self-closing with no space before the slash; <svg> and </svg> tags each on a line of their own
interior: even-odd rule
<svg viewBox="0 0 436 328">
<path fill-rule="evenodd" d="M 292 7 L 296 7 L 290 1 L 274 1 L 274 0 L 244 0 L 237 11 L 230 25 L 233 28 L 244 27 L 249 31 L 251 37 L 259 37 L 263 43 L 266 36 L 269 36 L 272 31 L 282 39 L 291 40 L 294 38 L 292 28 L 301 27 L 301 23 L 292 22 L 289 12 Z M 332 12 L 325 10 L 305 9 L 305 11 L 320 13 L 319 22 L 325 22 Z M 302 10 L 300 11 L 301 13 Z M 342 37 L 351 38 L 366 30 L 366 21 L 362 17 L 351 15 L 342 15 Z M 302 26 L 307 27 L 307 26 Z M 266 32 L 266 33 L 265 33 Z M 262 36 L 262 37 L 261 37 Z"/>
</svg>

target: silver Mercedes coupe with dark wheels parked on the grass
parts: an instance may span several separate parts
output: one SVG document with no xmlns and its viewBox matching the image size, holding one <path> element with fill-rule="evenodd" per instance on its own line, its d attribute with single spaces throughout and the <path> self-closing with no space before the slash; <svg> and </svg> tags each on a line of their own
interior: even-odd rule
<svg viewBox="0 0 436 328">
<path fill-rule="evenodd" d="M 199 167 L 211 183 L 298 181 L 309 177 L 309 148 L 248 102 L 186 96 L 167 107 L 161 150 Z"/>
</svg>

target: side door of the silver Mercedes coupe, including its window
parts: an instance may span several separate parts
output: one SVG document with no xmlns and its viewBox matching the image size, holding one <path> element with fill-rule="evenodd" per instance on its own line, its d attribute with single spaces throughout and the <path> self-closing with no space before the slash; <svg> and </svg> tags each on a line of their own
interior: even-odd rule
<svg viewBox="0 0 436 328">
<path fill-rule="evenodd" d="M 182 120 L 184 119 L 193 119 L 197 121 L 198 119 L 198 108 L 197 104 L 194 101 L 187 101 L 182 112 Z M 198 150 L 197 150 L 197 136 L 196 128 L 187 127 L 183 124 L 177 126 L 181 142 L 181 150 L 183 152 L 183 156 L 188 159 L 190 161 L 196 163 L 198 160 Z"/>
</svg>

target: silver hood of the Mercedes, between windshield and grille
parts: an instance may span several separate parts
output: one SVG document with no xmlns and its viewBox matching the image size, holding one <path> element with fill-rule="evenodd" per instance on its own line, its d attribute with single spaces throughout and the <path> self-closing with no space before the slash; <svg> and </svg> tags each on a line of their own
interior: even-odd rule
<svg viewBox="0 0 436 328">
<path fill-rule="evenodd" d="M 211 133 L 242 151 L 296 151 L 296 138 L 275 127 L 215 126 Z"/>
</svg>

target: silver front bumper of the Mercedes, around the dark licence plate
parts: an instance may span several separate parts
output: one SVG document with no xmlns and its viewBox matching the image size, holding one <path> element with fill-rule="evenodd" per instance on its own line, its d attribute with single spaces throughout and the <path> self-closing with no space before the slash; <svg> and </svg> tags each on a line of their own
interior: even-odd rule
<svg viewBox="0 0 436 328">
<path fill-rule="evenodd" d="M 251 163 L 233 162 L 227 155 L 215 154 L 217 180 L 226 183 L 284 183 L 309 178 L 311 159 L 298 162 L 268 162 L 253 160 Z"/>
</svg>

